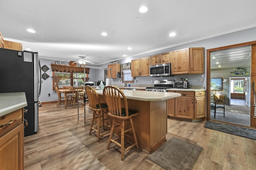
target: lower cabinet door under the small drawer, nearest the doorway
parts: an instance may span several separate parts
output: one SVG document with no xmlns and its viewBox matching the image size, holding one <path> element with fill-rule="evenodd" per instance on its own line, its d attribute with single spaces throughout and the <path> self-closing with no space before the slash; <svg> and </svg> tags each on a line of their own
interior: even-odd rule
<svg viewBox="0 0 256 170">
<path fill-rule="evenodd" d="M 195 97 L 195 119 L 205 117 L 205 96 Z"/>
</svg>

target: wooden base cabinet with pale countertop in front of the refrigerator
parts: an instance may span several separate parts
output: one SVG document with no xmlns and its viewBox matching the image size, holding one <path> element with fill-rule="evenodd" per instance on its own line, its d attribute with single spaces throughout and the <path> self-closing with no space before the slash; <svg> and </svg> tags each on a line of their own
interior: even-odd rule
<svg viewBox="0 0 256 170">
<path fill-rule="evenodd" d="M 24 169 L 25 92 L 0 93 L 0 162 L 1 169 Z"/>
</svg>

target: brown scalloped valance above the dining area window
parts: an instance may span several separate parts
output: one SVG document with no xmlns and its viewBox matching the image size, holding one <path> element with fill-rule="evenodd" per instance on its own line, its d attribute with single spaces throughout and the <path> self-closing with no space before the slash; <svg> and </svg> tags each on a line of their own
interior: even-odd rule
<svg viewBox="0 0 256 170">
<path fill-rule="evenodd" d="M 90 68 L 78 67 L 78 66 L 67 66 L 61 64 L 51 64 L 52 71 L 56 72 L 80 72 L 85 74 L 89 74 Z"/>
</svg>

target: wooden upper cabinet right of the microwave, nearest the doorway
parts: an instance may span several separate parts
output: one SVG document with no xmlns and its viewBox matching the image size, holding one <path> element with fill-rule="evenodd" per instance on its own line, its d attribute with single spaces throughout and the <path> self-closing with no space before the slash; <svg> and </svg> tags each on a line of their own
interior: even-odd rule
<svg viewBox="0 0 256 170">
<path fill-rule="evenodd" d="M 204 48 L 193 47 L 171 51 L 172 74 L 204 73 Z"/>
</svg>

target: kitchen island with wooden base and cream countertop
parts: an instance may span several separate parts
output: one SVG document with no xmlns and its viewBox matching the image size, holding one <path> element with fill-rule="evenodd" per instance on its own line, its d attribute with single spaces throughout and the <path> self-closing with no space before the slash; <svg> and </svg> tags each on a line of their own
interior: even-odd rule
<svg viewBox="0 0 256 170">
<path fill-rule="evenodd" d="M 103 90 L 96 90 L 96 92 L 104 102 Z M 181 94 L 136 90 L 122 90 L 122 92 L 127 98 L 129 109 L 139 112 L 132 118 L 139 148 L 150 154 L 166 140 L 167 100 L 179 97 Z M 126 140 L 132 141 L 132 139 Z"/>
</svg>

